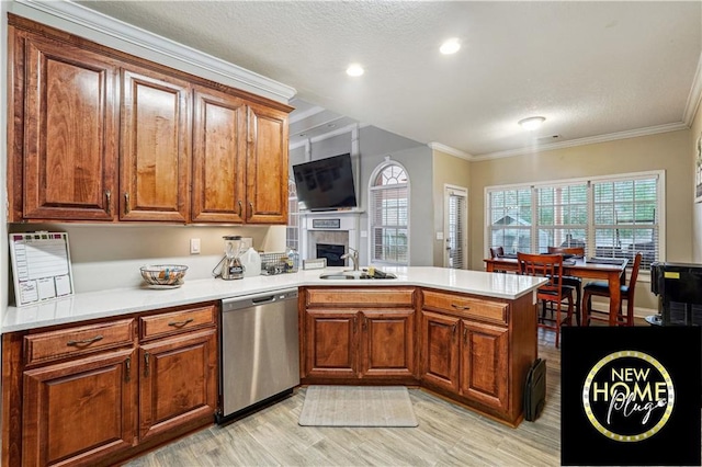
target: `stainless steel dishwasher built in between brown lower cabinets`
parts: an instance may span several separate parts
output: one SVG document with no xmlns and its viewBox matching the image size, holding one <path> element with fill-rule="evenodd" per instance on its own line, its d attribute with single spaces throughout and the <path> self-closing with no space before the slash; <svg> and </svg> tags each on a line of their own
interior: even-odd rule
<svg viewBox="0 0 702 467">
<path fill-rule="evenodd" d="M 297 288 L 222 300 L 217 423 L 284 398 L 299 385 Z"/>
</svg>

